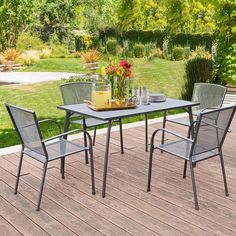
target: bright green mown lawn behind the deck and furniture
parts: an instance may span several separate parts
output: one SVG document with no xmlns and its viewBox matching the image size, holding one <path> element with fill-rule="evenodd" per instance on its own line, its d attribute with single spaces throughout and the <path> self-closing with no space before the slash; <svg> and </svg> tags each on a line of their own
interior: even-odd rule
<svg viewBox="0 0 236 236">
<path fill-rule="evenodd" d="M 132 86 L 145 86 L 151 92 L 164 92 L 169 97 L 180 97 L 184 77 L 184 62 L 166 61 L 158 58 L 152 61 L 145 59 L 132 59 L 131 61 L 133 64 Z M 107 63 L 107 61 L 103 61 L 100 65 L 107 65 Z M 35 65 L 24 68 L 22 71 L 87 72 L 81 59 L 78 58 L 44 59 Z M 30 85 L 0 86 L 0 100 L 2 101 L 0 104 L 0 148 L 19 143 L 15 131 L 12 130 L 12 124 L 4 103 L 34 110 L 39 119 L 53 117 L 63 127 L 65 113 L 57 109 L 57 106 L 62 104 L 59 91 L 61 83 L 62 81 L 53 81 Z M 142 116 L 128 118 L 124 120 L 124 123 L 142 119 Z M 47 136 L 47 129 L 48 126 L 43 127 L 45 136 Z"/>
</svg>

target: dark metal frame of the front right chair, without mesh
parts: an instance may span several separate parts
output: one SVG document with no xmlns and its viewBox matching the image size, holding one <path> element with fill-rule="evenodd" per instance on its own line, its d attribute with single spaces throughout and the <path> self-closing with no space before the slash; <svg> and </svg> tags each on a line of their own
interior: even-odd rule
<svg viewBox="0 0 236 236">
<path fill-rule="evenodd" d="M 218 120 L 218 115 L 217 115 L 217 112 L 221 112 L 221 111 L 224 111 L 224 110 L 227 110 L 227 109 L 233 109 L 232 110 L 232 113 L 230 114 L 229 116 L 229 120 L 228 120 L 228 123 L 226 125 L 226 128 L 222 128 L 220 126 L 217 125 L 217 122 L 215 122 L 215 124 L 210 124 L 208 122 L 205 122 L 203 120 L 203 116 L 204 115 L 208 115 L 208 114 L 212 114 L 213 112 L 216 113 L 216 117 L 215 117 L 215 121 Z M 195 167 L 195 164 L 199 161 L 203 161 L 203 160 L 206 160 L 206 159 L 209 159 L 209 158 L 212 158 L 212 157 L 215 157 L 215 156 L 219 156 L 220 157 L 220 162 L 221 162 L 221 169 L 222 169 L 222 175 L 223 175 L 223 181 L 224 181 L 224 187 L 225 187 L 225 195 L 228 196 L 229 195 L 229 192 L 228 192 L 228 186 L 227 186 L 227 181 L 226 181 L 226 173 L 225 173 L 225 167 L 224 167 L 224 160 L 223 160 L 223 153 L 222 153 L 222 146 L 223 146 L 223 143 L 224 143 L 224 140 L 225 140 L 225 137 L 226 137 L 226 134 L 227 132 L 229 132 L 229 126 L 232 122 L 232 119 L 233 119 L 233 116 L 234 116 L 234 113 L 235 113 L 235 109 L 236 109 L 236 106 L 230 106 L 230 107 L 225 107 L 225 108 L 218 108 L 218 109 L 214 109 L 214 110 L 210 110 L 210 111 L 203 111 L 201 112 L 199 115 L 198 115 L 198 118 L 196 121 L 193 122 L 193 124 L 190 126 L 189 128 L 189 134 L 191 133 L 191 129 L 195 126 L 195 133 L 194 133 L 194 137 L 191 139 L 191 138 L 186 138 L 180 134 L 177 134 L 175 132 L 172 132 L 170 130 L 167 130 L 167 129 L 157 129 L 154 131 L 154 133 L 152 134 L 152 137 L 151 137 L 151 149 L 150 149 L 150 157 L 149 157 L 149 169 L 148 169 L 148 184 L 147 184 L 147 191 L 151 191 L 151 175 L 152 175 L 152 162 L 153 162 L 153 153 L 154 153 L 154 149 L 159 149 L 161 151 L 164 151 L 164 152 L 167 152 L 169 154 L 172 154 L 174 156 L 177 156 L 179 158 L 182 158 L 184 159 L 186 162 L 189 162 L 189 166 L 190 166 L 190 173 L 191 173 L 191 178 L 192 178 L 192 188 L 193 188 L 193 194 L 194 194 L 194 202 L 195 202 L 195 209 L 196 210 L 199 210 L 199 204 L 198 204 L 198 197 L 197 197 L 197 189 L 196 189 L 196 183 L 195 183 L 195 174 L 194 174 L 194 167 Z M 200 129 L 201 126 L 211 126 L 211 127 L 214 127 L 216 129 L 216 133 L 217 133 L 217 147 L 214 148 L 215 149 L 218 149 L 218 152 L 217 153 L 213 153 L 211 155 L 206 155 L 204 158 L 202 159 L 199 159 L 199 160 L 195 160 L 193 157 L 194 155 L 194 149 L 197 145 L 197 142 L 199 141 L 199 139 L 201 137 L 198 137 L 198 131 Z M 218 132 L 219 130 L 223 131 L 224 134 L 222 135 L 222 139 L 221 139 L 221 142 L 219 142 L 219 138 L 218 138 Z M 179 140 L 183 140 L 183 141 L 186 141 L 189 143 L 189 145 L 191 145 L 191 149 L 190 149 L 190 152 L 189 152 L 189 155 L 187 156 L 182 156 L 174 151 L 170 151 L 170 149 L 166 149 L 165 146 L 166 145 L 171 145 L 171 144 L 175 144 L 176 141 L 173 141 L 173 142 L 170 142 L 170 143 L 167 143 L 167 144 L 161 144 L 159 146 L 154 146 L 154 139 L 155 139 L 155 136 L 156 134 L 158 134 L 158 132 L 166 132 L 176 138 L 178 138 Z M 199 154 L 207 154 L 207 152 L 210 152 L 212 150 L 206 150 L 206 151 L 202 151 L 197 153 L 197 155 Z M 186 170 L 185 170 L 186 171 Z M 185 176 L 186 176 L 186 173 L 185 173 Z M 184 178 L 185 178 L 184 176 Z"/>
</svg>

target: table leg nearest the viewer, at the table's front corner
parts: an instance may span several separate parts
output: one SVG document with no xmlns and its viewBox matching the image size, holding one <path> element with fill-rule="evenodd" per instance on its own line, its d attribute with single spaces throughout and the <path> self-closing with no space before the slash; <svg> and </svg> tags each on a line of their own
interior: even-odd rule
<svg viewBox="0 0 236 236">
<path fill-rule="evenodd" d="M 107 128 L 107 140 L 106 140 L 106 150 L 105 150 L 104 170 L 103 170 L 103 186 L 102 186 L 102 197 L 103 198 L 106 196 L 107 167 L 108 167 L 108 156 L 109 156 L 111 126 L 112 126 L 112 121 L 109 120 L 108 128 Z"/>
</svg>

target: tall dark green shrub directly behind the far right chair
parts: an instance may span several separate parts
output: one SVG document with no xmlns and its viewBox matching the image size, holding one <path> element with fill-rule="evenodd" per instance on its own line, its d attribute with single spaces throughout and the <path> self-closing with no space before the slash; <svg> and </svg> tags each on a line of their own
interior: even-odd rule
<svg viewBox="0 0 236 236">
<path fill-rule="evenodd" d="M 213 61 L 205 57 L 195 57 L 188 60 L 186 77 L 182 88 L 182 99 L 191 100 L 194 83 L 207 83 L 213 81 Z"/>
</svg>

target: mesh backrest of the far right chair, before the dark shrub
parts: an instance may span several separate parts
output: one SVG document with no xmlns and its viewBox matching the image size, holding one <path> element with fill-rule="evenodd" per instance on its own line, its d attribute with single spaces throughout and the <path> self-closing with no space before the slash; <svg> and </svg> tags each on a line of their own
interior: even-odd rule
<svg viewBox="0 0 236 236">
<path fill-rule="evenodd" d="M 194 107 L 196 110 L 221 107 L 227 88 L 218 84 L 195 83 L 192 95 L 192 101 L 199 102 L 200 105 Z"/>
</svg>

